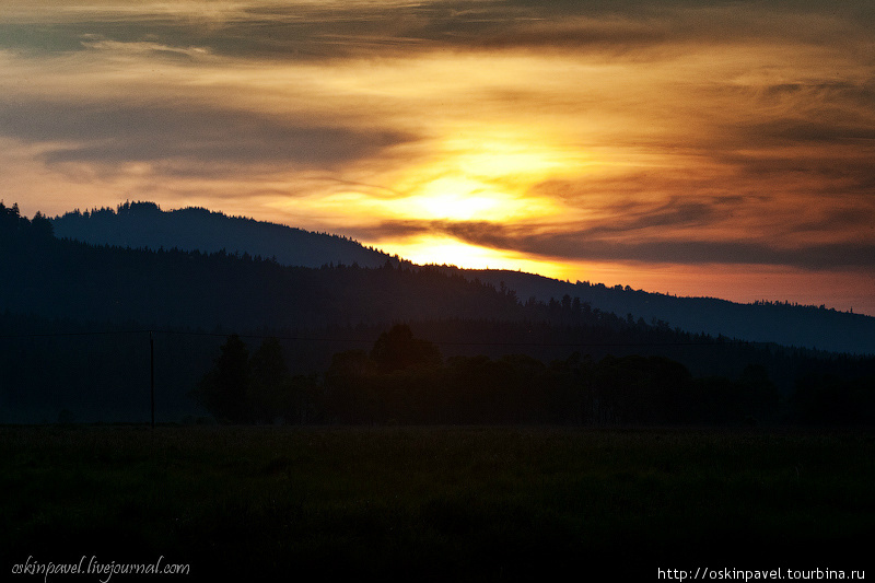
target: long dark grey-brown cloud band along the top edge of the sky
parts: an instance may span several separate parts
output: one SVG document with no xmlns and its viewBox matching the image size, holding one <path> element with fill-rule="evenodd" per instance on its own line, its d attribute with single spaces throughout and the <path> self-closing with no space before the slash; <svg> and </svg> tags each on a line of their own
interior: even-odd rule
<svg viewBox="0 0 875 583">
<path fill-rule="evenodd" d="M 711 11 L 709 13 L 709 11 Z M 763 13 L 772 18 L 763 19 Z M 754 18 L 751 14 L 757 14 Z M 733 15 L 733 16 L 731 16 Z M 215 19 L 196 14 L 93 14 L 78 22 L 0 25 L 0 47 L 36 51 L 88 48 L 83 40 L 198 46 L 243 58 L 320 59 L 470 48 L 594 48 L 633 51 L 666 43 L 734 42 L 751 37 L 835 34 L 822 23 L 778 26 L 788 15 L 853 26 L 875 20 L 871 2 L 786 1 L 434 1 L 420 3 L 248 4 Z M 124 20 L 122 20 L 124 19 Z M 786 23 L 784 23 L 786 24 Z"/>
</svg>

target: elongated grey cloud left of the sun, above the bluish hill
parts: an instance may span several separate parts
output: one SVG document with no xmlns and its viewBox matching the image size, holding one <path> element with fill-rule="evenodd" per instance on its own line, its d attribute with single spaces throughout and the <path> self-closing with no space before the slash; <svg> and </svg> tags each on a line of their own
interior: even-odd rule
<svg viewBox="0 0 875 583">
<path fill-rule="evenodd" d="M 195 162 L 210 172 L 236 164 L 334 166 L 410 139 L 397 132 L 210 107 L 125 103 L 0 102 L 0 135 L 58 143 L 49 163 Z"/>
</svg>

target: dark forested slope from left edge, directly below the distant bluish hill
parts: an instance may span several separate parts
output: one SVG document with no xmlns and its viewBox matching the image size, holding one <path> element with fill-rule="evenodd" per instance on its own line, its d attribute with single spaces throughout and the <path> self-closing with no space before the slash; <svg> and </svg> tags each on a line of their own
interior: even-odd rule
<svg viewBox="0 0 875 583">
<path fill-rule="evenodd" d="M 93 246 L 52 237 L 50 225 L 36 233 L 20 221 L 22 232 L 4 233 L 0 248 L 0 310 L 12 313 L 244 330 L 523 317 L 512 298 L 435 269 L 388 263 L 314 269 L 224 250 Z"/>
</svg>

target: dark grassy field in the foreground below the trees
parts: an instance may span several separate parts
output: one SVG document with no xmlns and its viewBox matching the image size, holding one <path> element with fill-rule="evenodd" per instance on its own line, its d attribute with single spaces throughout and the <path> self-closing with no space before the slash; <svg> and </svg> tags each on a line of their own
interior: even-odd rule
<svg viewBox="0 0 875 583">
<path fill-rule="evenodd" d="M 0 579 L 83 556 L 190 565 L 162 581 L 864 569 L 873 485 L 860 432 L 2 428 Z"/>
</svg>

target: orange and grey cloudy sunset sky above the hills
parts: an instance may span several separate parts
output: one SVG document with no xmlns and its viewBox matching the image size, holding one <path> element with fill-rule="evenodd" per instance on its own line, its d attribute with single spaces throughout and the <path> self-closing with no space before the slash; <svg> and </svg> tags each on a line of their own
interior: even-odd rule
<svg viewBox="0 0 875 583">
<path fill-rule="evenodd" d="M 875 3 L 3 0 L 0 176 L 875 315 Z"/>
</svg>

